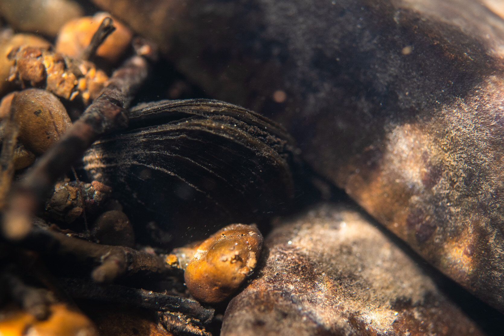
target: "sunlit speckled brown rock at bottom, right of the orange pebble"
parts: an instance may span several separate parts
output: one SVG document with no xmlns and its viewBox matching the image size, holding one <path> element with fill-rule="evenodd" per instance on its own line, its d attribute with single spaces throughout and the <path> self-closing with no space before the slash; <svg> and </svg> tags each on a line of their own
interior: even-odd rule
<svg viewBox="0 0 504 336">
<path fill-rule="evenodd" d="M 221 335 L 481 335 L 421 268 L 362 215 L 322 205 L 266 239 L 257 279 Z"/>
</svg>

